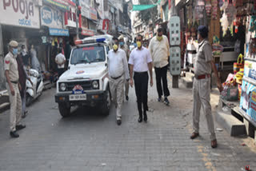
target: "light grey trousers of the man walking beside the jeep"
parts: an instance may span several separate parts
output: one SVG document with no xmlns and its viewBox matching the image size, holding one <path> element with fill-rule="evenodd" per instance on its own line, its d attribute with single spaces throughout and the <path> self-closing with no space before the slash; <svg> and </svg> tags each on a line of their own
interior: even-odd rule
<svg viewBox="0 0 256 171">
<path fill-rule="evenodd" d="M 111 97 L 112 101 L 114 102 L 115 106 L 117 107 L 117 119 L 121 119 L 122 117 L 122 102 L 124 98 L 124 83 L 125 79 L 124 76 L 122 75 L 121 78 L 118 79 L 113 79 L 110 77 L 110 92 L 111 92 Z"/>
</svg>

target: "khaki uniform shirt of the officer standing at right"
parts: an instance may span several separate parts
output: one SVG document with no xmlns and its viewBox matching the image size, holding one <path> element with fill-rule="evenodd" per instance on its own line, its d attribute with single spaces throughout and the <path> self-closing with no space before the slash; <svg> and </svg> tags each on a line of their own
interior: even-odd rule
<svg viewBox="0 0 256 171">
<path fill-rule="evenodd" d="M 211 61 L 213 60 L 210 43 L 203 40 L 198 44 L 198 50 L 194 62 L 194 74 L 199 76 L 211 74 Z"/>
</svg>

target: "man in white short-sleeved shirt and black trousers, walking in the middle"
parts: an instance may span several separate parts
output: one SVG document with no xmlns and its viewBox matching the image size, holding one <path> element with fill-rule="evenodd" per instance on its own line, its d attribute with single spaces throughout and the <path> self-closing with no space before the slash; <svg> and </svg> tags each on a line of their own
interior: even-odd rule
<svg viewBox="0 0 256 171">
<path fill-rule="evenodd" d="M 147 105 L 147 89 L 149 82 L 148 71 L 150 71 L 150 86 L 153 86 L 152 78 L 152 58 L 150 56 L 150 50 L 142 46 L 142 35 L 137 36 L 137 48 L 130 53 L 130 86 L 135 85 L 135 93 L 137 97 L 138 105 L 138 122 L 142 122 L 142 103 L 143 103 L 143 115 L 144 121 L 147 121 L 146 111 L 148 111 Z M 133 81 L 134 74 L 134 81 Z"/>
</svg>

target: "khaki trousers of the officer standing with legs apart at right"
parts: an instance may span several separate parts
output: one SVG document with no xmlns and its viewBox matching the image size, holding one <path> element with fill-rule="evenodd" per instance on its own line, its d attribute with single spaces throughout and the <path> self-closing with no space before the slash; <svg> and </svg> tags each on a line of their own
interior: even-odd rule
<svg viewBox="0 0 256 171">
<path fill-rule="evenodd" d="M 193 129 L 194 133 L 199 133 L 199 119 L 200 109 L 202 106 L 203 113 L 206 116 L 208 131 L 210 132 L 210 140 L 216 139 L 214 132 L 214 119 L 211 113 L 210 106 L 210 78 L 196 79 L 194 78 L 193 84 L 193 97 L 194 97 L 194 108 L 193 108 Z"/>
</svg>

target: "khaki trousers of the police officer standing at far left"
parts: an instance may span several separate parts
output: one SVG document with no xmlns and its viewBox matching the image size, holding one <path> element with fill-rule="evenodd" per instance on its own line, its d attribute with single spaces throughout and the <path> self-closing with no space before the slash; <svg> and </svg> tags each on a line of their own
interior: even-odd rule
<svg viewBox="0 0 256 171">
<path fill-rule="evenodd" d="M 6 88 L 9 93 L 10 100 L 10 131 L 16 130 L 16 125 L 22 120 L 22 99 L 19 93 L 18 84 L 11 83 L 14 88 L 14 96 L 10 93 L 10 87 L 6 83 Z"/>
</svg>

